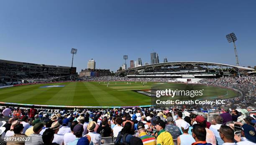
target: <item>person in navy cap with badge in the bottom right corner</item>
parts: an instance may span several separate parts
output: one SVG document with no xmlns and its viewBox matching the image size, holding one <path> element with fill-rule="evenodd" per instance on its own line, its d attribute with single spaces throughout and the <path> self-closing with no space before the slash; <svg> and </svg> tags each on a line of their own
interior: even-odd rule
<svg viewBox="0 0 256 145">
<path fill-rule="evenodd" d="M 235 135 L 237 145 L 256 145 L 256 130 L 252 125 L 242 125 L 241 135 L 244 136 L 243 140 L 240 136 Z"/>
</svg>

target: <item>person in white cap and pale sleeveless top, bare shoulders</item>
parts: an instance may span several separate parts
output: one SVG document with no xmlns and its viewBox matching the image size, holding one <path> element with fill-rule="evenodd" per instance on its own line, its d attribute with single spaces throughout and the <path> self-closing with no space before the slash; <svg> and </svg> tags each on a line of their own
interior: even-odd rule
<svg viewBox="0 0 256 145">
<path fill-rule="evenodd" d="M 195 142 L 192 135 L 188 134 L 189 124 L 187 122 L 182 122 L 181 129 L 183 134 L 177 138 L 177 145 L 191 145 L 193 142 Z"/>
</svg>

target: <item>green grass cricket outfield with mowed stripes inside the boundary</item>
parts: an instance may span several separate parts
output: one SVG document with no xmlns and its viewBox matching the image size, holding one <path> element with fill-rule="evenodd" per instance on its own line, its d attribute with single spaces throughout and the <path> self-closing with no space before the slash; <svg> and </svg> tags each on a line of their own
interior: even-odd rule
<svg viewBox="0 0 256 145">
<path fill-rule="evenodd" d="M 0 89 L 0 102 L 19 104 L 40 104 L 58 106 L 141 106 L 151 105 L 151 97 L 132 90 L 151 89 L 154 82 L 147 82 L 143 86 L 141 82 L 120 81 L 110 82 L 109 87 L 104 82 L 64 82 L 54 84 L 33 84 L 15 86 Z M 64 87 L 47 87 L 48 85 L 65 85 Z M 169 83 L 170 89 L 182 89 L 187 84 Z M 237 92 L 213 87 L 197 85 L 195 87 L 205 90 L 203 98 L 211 98 L 225 95 L 225 98 L 236 97 Z M 198 88 L 197 88 L 198 89 Z M 224 99 L 224 97 L 222 97 Z"/>
</svg>

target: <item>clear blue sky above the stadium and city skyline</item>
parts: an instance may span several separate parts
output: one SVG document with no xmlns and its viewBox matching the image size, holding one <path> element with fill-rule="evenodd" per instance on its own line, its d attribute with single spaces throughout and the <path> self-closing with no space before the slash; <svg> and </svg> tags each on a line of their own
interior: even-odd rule
<svg viewBox="0 0 256 145">
<path fill-rule="evenodd" d="M 150 62 L 207 61 L 256 66 L 256 0 L 1 0 L 0 59 L 71 66 L 94 59 L 116 71 L 141 57 Z"/>
</svg>

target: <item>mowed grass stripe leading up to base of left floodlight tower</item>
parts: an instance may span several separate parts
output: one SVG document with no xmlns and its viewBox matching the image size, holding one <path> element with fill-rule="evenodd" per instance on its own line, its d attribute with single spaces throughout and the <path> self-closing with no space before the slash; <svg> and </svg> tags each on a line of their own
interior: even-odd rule
<svg viewBox="0 0 256 145">
<path fill-rule="evenodd" d="M 74 98 L 75 89 L 77 87 L 77 82 L 68 83 L 66 86 L 61 87 L 58 93 L 56 93 L 53 97 L 51 97 L 46 104 L 55 104 L 55 105 L 63 105 L 70 104 L 70 102 Z"/>
</svg>

